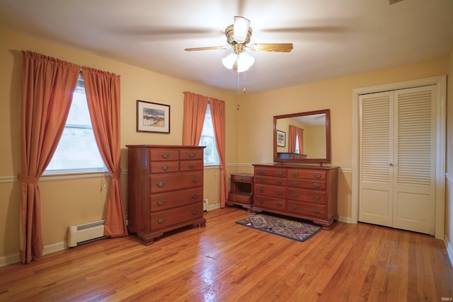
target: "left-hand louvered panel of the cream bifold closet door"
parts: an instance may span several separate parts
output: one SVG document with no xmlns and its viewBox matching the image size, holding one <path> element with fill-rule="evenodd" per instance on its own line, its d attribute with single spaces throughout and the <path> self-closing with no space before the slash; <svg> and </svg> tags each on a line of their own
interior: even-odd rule
<svg viewBox="0 0 453 302">
<path fill-rule="evenodd" d="M 359 221 L 392 226 L 394 93 L 360 96 Z"/>
</svg>

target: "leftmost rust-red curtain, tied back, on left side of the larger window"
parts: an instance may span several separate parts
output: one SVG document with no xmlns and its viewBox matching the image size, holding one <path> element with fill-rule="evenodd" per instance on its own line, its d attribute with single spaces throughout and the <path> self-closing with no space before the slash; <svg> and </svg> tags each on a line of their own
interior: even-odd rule
<svg viewBox="0 0 453 302">
<path fill-rule="evenodd" d="M 66 124 L 79 66 L 22 51 L 21 262 L 42 256 L 38 180 L 50 163 Z"/>
</svg>

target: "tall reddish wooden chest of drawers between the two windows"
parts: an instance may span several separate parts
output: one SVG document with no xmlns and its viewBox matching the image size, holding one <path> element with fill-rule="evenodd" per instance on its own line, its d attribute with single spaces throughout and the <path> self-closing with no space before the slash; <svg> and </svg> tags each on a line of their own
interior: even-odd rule
<svg viewBox="0 0 453 302">
<path fill-rule="evenodd" d="M 203 218 L 203 149 L 128 145 L 128 231 L 144 245 Z"/>
</svg>

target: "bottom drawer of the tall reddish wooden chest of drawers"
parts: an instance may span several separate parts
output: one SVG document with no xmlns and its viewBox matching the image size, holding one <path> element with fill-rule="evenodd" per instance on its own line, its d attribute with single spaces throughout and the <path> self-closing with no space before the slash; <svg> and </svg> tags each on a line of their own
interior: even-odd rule
<svg viewBox="0 0 453 302">
<path fill-rule="evenodd" d="M 151 231 L 156 231 L 160 228 L 168 228 L 176 224 L 185 223 L 186 221 L 202 219 L 202 217 L 203 204 L 197 202 L 197 204 L 189 204 L 176 209 L 151 213 L 149 224 Z"/>
</svg>

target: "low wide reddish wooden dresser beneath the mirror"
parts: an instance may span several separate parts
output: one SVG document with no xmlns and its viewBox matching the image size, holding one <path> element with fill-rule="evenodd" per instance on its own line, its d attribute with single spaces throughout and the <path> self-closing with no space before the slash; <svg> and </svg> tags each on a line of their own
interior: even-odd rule
<svg viewBox="0 0 453 302">
<path fill-rule="evenodd" d="M 330 230 L 338 219 L 338 167 L 315 165 L 254 166 L 252 211 L 311 220 Z"/>
</svg>

